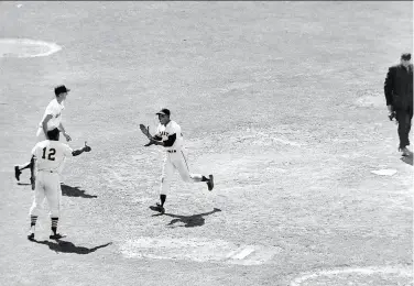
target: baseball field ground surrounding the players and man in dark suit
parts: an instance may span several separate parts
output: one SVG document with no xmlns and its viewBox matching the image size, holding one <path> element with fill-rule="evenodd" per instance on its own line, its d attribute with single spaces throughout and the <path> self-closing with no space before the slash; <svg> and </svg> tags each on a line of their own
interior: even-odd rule
<svg viewBox="0 0 414 286">
<path fill-rule="evenodd" d="M 0 57 L 0 285 L 413 285 L 413 163 L 383 96 L 412 2 L 0 2 L 0 26 L 62 46 Z M 59 84 L 92 152 L 63 174 L 67 238 L 45 212 L 30 242 L 13 165 Z M 177 176 L 154 216 L 163 151 L 138 124 L 162 107 L 216 187 Z"/>
</svg>

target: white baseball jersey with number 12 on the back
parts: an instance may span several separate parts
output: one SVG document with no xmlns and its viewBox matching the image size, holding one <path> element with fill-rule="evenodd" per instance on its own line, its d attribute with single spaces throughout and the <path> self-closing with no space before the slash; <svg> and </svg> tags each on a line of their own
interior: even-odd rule
<svg viewBox="0 0 414 286">
<path fill-rule="evenodd" d="M 53 140 L 39 142 L 32 150 L 36 156 L 37 170 L 53 170 L 58 174 L 63 170 L 65 157 L 72 157 L 73 150 L 65 143 Z"/>
</svg>

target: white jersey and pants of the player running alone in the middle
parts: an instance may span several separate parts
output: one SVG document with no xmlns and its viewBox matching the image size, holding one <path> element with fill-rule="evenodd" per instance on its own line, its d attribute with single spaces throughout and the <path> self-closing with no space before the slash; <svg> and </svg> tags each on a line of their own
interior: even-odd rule
<svg viewBox="0 0 414 286">
<path fill-rule="evenodd" d="M 172 146 L 165 147 L 166 153 L 163 163 L 161 194 L 166 195 L 170 191 L 171 180 L 174 169 L 177 169 L 182 179 L 187 183 L 201 182 L 203 175 L 190 174 L 187 158 L 183 152 L 183 134 L 181 127 L 173 120 L 166 125 L 159 124 L 155 136 L 166 141 L 170 135 L 176 134 L 176 140 Z"/>
</svg>

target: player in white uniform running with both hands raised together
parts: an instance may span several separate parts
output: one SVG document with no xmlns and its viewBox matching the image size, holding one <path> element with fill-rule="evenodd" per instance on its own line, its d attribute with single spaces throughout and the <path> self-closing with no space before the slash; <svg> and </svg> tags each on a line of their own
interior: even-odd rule
<svg viewBox="0 0 414 286">
<path fill-rule="evenodd" d="M 171 179 L 174 175 L 174 170 L 177 169 L 182 179 L 187 183 L 198 183 L 205 182 L 207 184 L 208 190 L 214 188 L 213 175 L 208 178 L 199 174 L 190 174 L 187 165 L 187 158 L 183 153 L 183 134 L 181 127 L 173 120 L 170 119 L 171 112 L 168 109 L 164 108 L 156 112 L 159 116 L 160 124 L 156 129 L 156 134 L 151 136 L 149 128 L 140 124 L 141 131 L 148 136 L 150 142 L 145 146 L 150 145 L 161 145 L 165 147 L 165 157 L 163 163 L 163 172 L 160 188 L 160 204 L 150 207 L 152 210 L 159 211 L 161 213 L 165 212 L 164 204 L 166 200 L 166 195 L 170 191 Z"/>
</svg>

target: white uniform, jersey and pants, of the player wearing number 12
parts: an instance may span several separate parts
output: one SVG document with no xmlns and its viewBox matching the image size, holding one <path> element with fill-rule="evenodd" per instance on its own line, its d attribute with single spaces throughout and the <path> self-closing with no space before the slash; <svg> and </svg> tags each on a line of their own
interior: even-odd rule
<svg viewBox="0 0 414 286">
<path fill-rule="evenodd" d="M 52 140 L 39 142 L 33 147 L 32 154 L 36 157 L 36 187 L 30 216 L 39 216 L 46 197 L 51 217 L 58 217 L 62 197 L 59 174 L 65 157 L 73 156 L 72 152 L 67 144 Z"/>
</svg>

